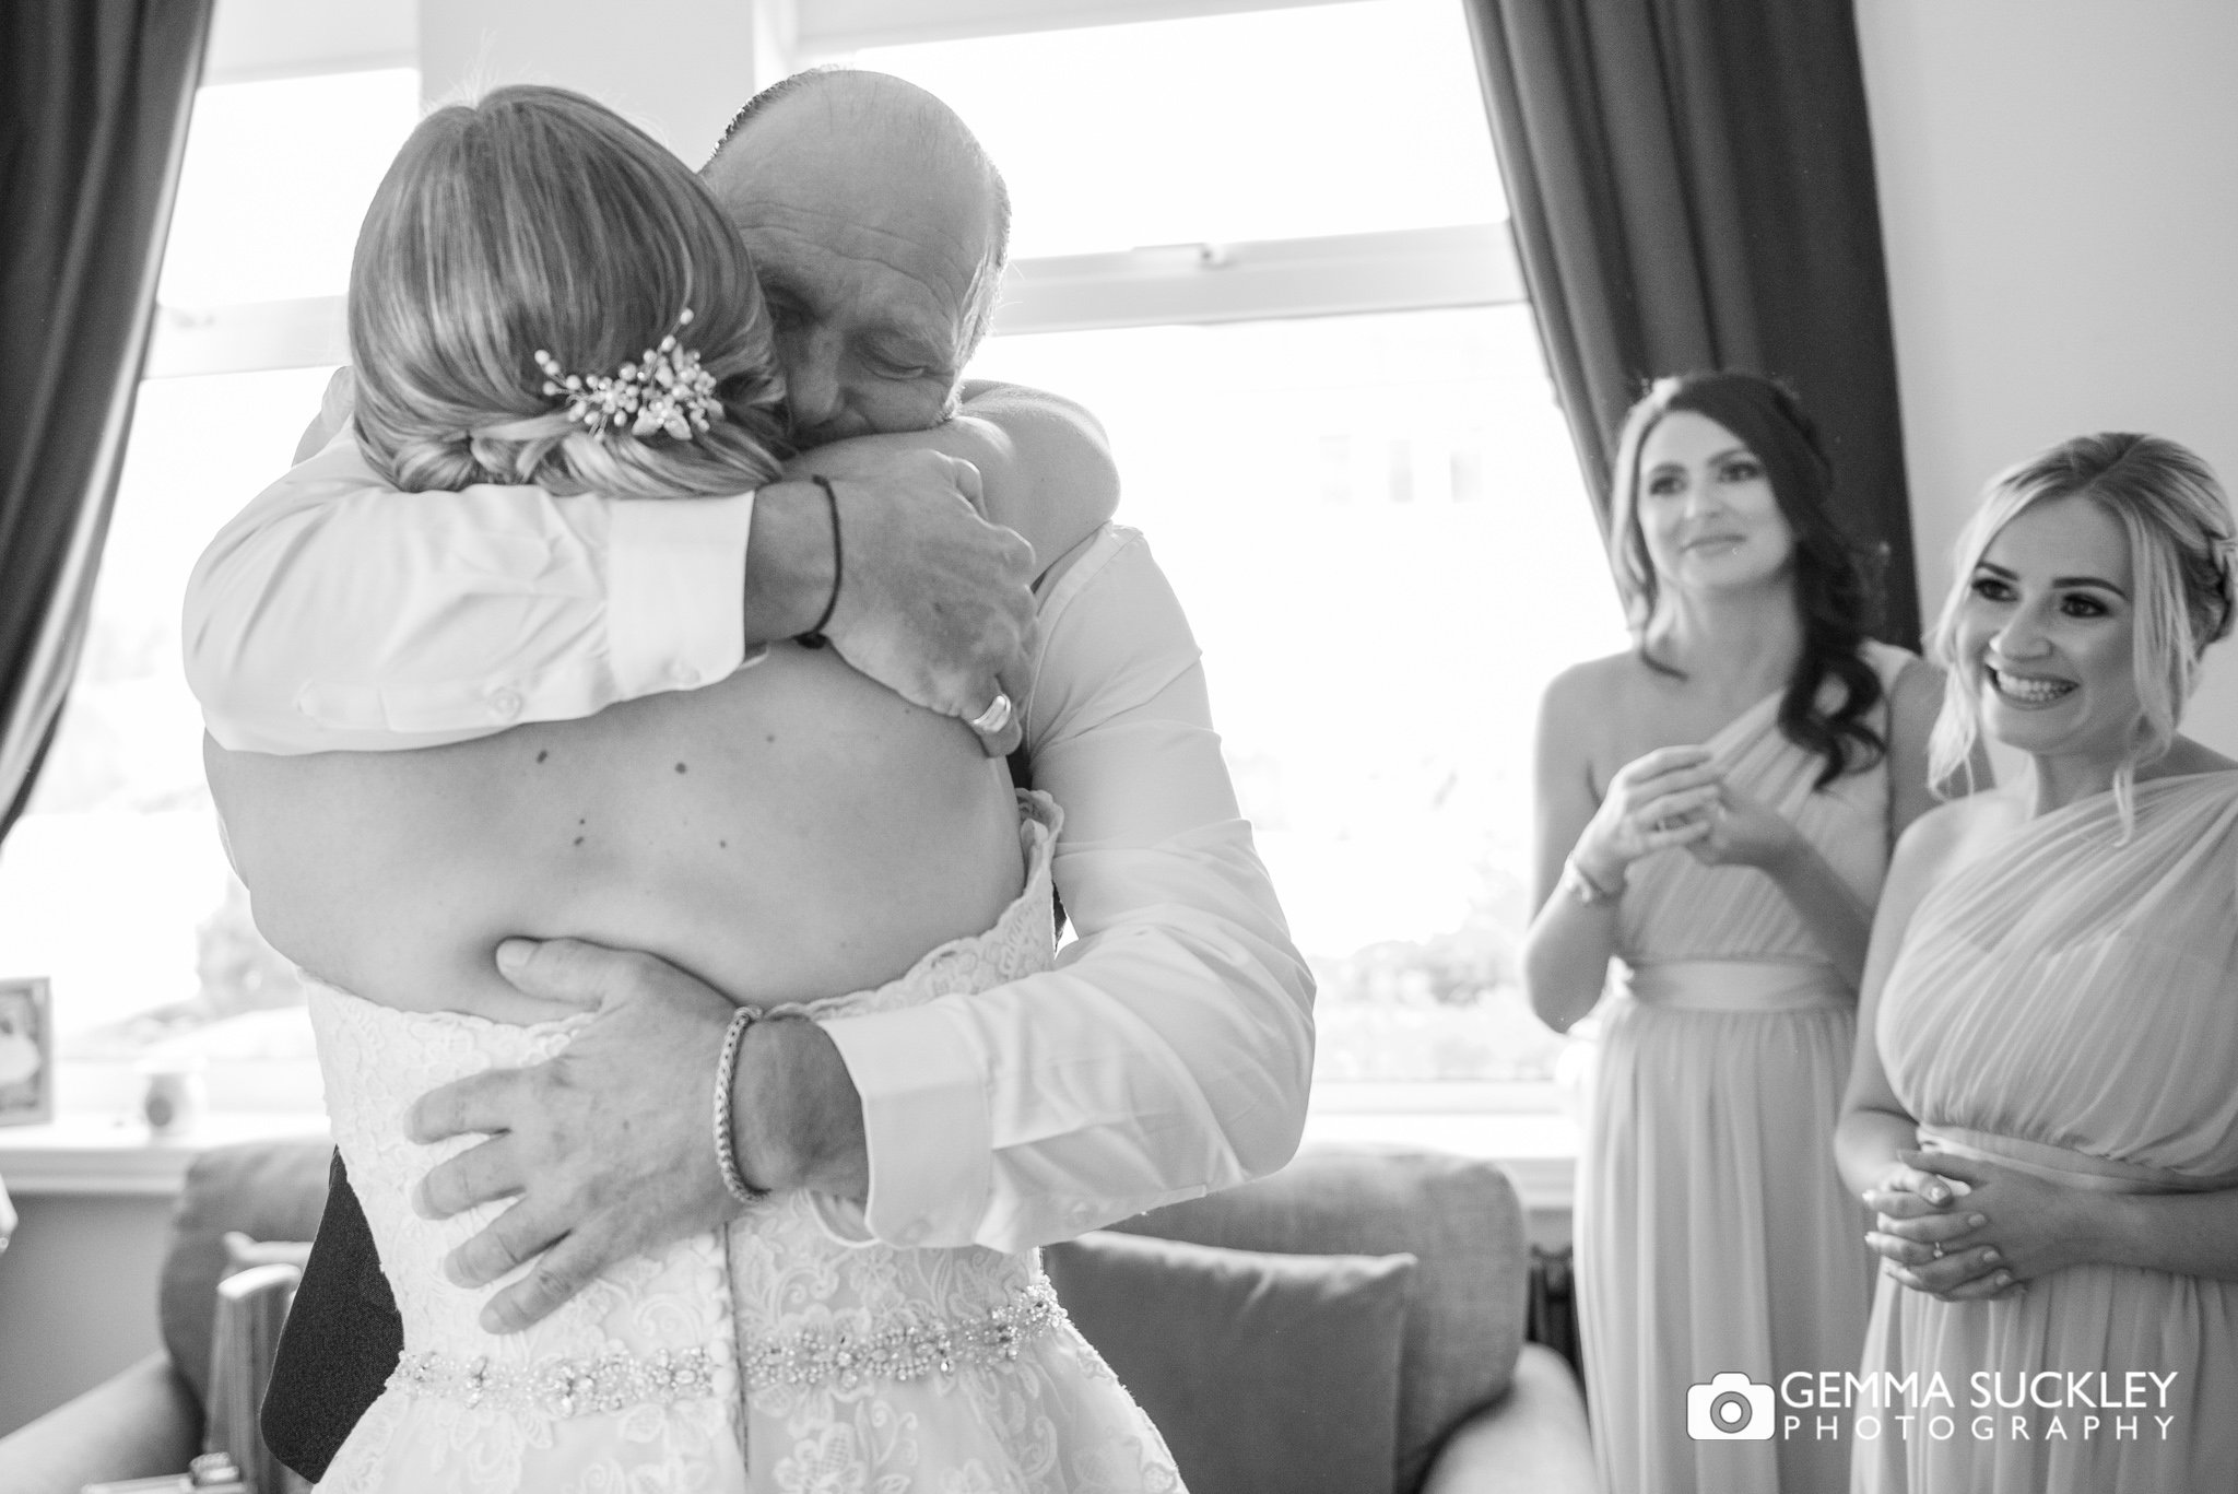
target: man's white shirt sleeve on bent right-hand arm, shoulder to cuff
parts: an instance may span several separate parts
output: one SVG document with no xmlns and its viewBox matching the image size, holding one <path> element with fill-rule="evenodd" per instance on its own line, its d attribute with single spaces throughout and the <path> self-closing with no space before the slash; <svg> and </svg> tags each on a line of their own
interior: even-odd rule
<svg viewBox="0 0 2238 1494">
<path fill-rule="evenodd" d="M 1079 939 L 1045 974 L 824 1021 L 891 1243 L 1065 1239 L 1273 1171 L 1305 1124 L 1314 981 L 1139 533 L 1108 526 L 1043 598 L 1025 710 Z"/>
</svg>

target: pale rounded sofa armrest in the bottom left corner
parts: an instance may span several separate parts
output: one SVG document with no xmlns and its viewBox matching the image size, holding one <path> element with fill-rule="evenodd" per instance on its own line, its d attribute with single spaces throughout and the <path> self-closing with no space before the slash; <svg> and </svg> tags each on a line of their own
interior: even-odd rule
<svg viewBox="0 0 2238 1494">
<path fill-rule="evenodd" d="M 199 1451 L 201 1407 L 157 1351 L 0 1440 L 0 1494 L 181 1474 Z"/>
</svg>

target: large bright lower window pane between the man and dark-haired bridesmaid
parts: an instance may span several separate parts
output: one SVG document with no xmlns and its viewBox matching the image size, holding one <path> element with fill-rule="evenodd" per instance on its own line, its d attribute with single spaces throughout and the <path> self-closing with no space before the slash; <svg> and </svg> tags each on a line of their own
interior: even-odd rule
<svg viewBox="0 0 2238 1494">
<path fill-rule="evenodd" d="M 1529 307 L 996 338 L 1110 430 L 1320 974 L 1323 1080 L 1544 1080 L 1531 728 L 1625 645 Z"/>
</svg>

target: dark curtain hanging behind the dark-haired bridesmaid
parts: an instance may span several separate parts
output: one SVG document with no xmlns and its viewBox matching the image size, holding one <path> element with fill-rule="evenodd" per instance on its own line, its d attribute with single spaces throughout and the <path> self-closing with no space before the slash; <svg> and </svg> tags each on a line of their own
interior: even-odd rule
<svg viewBox="0 0 2238 1494">
<path fill-rule="evenodd" d="M 1464 0 L 1531 307 L 1609 515 L 1658 374 L 1786 379 L 1918 647 L 1896 340 L 1851 0 Z"/>
</svg>

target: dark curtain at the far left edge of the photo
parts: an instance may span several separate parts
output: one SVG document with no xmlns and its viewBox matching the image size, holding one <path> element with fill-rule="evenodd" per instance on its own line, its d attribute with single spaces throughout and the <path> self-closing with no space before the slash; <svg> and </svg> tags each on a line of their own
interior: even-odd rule
<svg viewBox="0 0 2238 1494">
<path fill-rule="evenodd" d="M 210 0 L 0 4 L 0 835 L 85 643 Z"/>
</svg>

